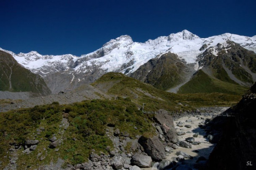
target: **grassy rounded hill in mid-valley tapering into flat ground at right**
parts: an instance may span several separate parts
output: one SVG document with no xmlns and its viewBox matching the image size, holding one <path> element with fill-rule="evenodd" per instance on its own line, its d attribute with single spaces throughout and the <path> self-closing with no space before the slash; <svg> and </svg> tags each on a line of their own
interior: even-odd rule
<svg viewBox="0 0 256 170">
<path fill-rule="evenodd" d="M 168 93 L 121 73 L 113 72 L 103 75 L 92 85 L 104 90 L 109 95 L 131 98 L 134 103 L 138 104 L 138 107 L 145 103 L 147 111 L 161 108 L 169 111 L 180 109 L 185 111 L 198 106 L 231 106 L 241 98 L 241 95 L 225 93 Z M 178 103 L 182 103 L 183 106 Z"/>
</svg>

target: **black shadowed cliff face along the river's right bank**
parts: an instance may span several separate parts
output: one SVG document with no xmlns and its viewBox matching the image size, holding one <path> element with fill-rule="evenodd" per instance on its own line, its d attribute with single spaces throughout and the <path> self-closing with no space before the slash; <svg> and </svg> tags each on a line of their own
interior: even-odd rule
<svg viewBox="0 0 256 170">
<path fill-rule="evenodd" d="M 226 111 L 235 117 L 224 122 L 222 137 L 209 157 L 210 170 L 256 169 L 255 106 L 256 83 L 236 106 Z"/>
</svg>

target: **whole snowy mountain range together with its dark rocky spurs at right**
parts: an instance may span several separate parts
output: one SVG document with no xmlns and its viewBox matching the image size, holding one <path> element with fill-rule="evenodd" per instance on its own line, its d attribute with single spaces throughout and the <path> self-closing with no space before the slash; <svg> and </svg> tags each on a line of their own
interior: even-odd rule
<svg viewBox="0 0 256 170">
<path fill-rule="evenodd" d="M 254 53 L 247 50 L 252 50 Z M 225 33 L 219 36 L 200 38 L 184 30 L 169 36 L 160 36 L 154 40 L 150 39 L 144 43 L 133 42 L 127 35 L 120 36 L 110 40 L 95 52 L 81 55 L 81 57 L 71 54 L 43 56 L 37 52 L 27 54 L 14 54 L 6 50 L 5 52 L 12 54 L 27 69 L 41 75 L 52 93 L 58 93 L 60 90 L 72 90 L 82 84 L 94 82 L 107 72 L 133 75 L 139 80 L 144 80 L 162 89 L 185 84 L 191 73 L 202 68 L 205 68 L 204 72 L 208 75 L 222 81 L 236 82 L 246 86 L 255 81 L 253 68 L 255 68 L 256 36 L 246 37 Z M 235 54 L 235 52 L 237 53 Z M 168 58 L 164 55 L 165 57 L 161 57 L 162 54 L 169 53 L 174 53 L 177 56 Z M 233 54 L 237 57 L 232 58 Z M 248 55 L 250 57 L 244 57 Z M 219 59 L 220 56 L 223 59 Z M 161 67 L 161 63 L 163 64 L 165 59 L 165 66 L 162 66 L 161 70 L 157 69 Z M 225 67 L 216 70 L 216 67 L 223 63 L 219 62 L 218 66 L 214 65 L 214 59 L 222 60 Z M 154 62 L 157 65 L 154 65 Z M 144 67 L 145 63 L 147 64 Z M 213 66 L 211 66 L 212 64 Z M 144 68 L 139 69 L 139 67 Z M 181 68 L 185 68 L 185 70 L 181 70 Z M 154 73 L 154 70 L 157 72 Z M 167 73 L 169 71 L 171 73 Z M 171 78 L 170 75 L 173 73 L 175 77 Z M 222 77 L 222 73 L 224 77 Z M 181 78 L 184 74 L 185 78 Z M 160 82 L 155 82 L 155 80 Z"/>
</svg>

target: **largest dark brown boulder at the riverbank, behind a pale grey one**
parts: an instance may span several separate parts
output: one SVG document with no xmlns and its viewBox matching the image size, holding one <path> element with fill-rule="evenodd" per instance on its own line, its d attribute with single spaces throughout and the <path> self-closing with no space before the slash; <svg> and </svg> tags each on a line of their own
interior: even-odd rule
<svg viewBox="0 0 256 170">
<path fill-rule="evenodd" d="M 165 146 L 158 137 L 144 137 L 138 139 L 138 143 L 144 148 L 144 151 L 155 161 L 161 161 L 166 158 Z"/>
</svg>

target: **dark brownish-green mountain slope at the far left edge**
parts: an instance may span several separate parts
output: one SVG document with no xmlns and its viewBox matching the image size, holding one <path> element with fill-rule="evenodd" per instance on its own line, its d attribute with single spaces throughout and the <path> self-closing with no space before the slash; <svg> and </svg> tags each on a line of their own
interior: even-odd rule
<svg viewBox="0 0 256 170">
<path fill-rule="evenodd" d="M 51 93 L 41 76 L 25 69 L 18 64 L 11 54 L 1 50 L 0 65 L 1 91 L 31 92 L 34 95 L 48 95 Z"/>
</svg>

